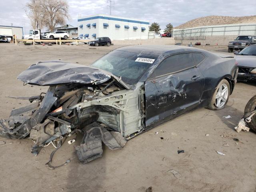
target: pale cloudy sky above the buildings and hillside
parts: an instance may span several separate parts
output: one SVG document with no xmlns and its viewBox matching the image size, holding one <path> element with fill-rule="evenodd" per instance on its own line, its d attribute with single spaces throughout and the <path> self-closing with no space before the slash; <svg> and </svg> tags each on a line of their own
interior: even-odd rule
<svg viewBox="0 0 256 192">
<path fill-rule="evenodd" d="M 0 0 L 0 25 L 21 26 L 25 34 L 31 29 L 24 8 L 29 0 Z M 94 14 L 110 14 L 107 0 L 67 0 L 70 20 L 67 24 L 78 26 L 78 14 L 82 17 Z M 255 0 L 115 0 L 112 16 L 122 16 L 178 26 L 203 16 L 250 16 L 256 15 Z M 43 30 L 44 31 L 44 30 Z"/>
</svg>

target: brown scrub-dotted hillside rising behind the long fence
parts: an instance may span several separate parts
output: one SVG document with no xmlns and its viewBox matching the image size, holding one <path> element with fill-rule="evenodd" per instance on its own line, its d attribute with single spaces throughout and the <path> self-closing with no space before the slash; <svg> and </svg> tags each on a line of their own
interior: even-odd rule
<svg viewBox="0 0 256 192">
<path fill-rule="evenodd" d="M 256 23 L 256 15 L 244 17 L 230 16 L 206 16 L 190 20 L 184 24 L 174 27 L 174 29 L 184 29 L 190 27 L 207 26 L 207 25 L 224 25 L 235 23 Z"/>
</svg>

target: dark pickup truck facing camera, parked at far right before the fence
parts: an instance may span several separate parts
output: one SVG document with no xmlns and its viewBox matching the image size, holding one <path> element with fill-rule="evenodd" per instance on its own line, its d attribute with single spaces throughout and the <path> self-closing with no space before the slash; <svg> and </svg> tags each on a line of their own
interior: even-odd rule
<svg viewBox="0 0 256 192">
<path fill-rule="evenodd" d="M 228 52 L 232 53 L 233 50 L 242 50 L 252 44 L 256 44 L 256 36 L 238 36 L 234 41 L 228 43 Z"/>
</svg>

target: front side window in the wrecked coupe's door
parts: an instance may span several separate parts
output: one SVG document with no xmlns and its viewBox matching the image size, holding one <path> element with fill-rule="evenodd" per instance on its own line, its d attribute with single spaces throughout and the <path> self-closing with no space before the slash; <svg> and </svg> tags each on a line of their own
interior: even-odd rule
<svg viewBox="0 0 256 192">
<path fill-rule="evenodd" d="M 165 74 L 174 73 L 193 67 L 194 61 L 192 53 L 183 53 L 170 56 L 163 60 L 155 70 L 155 76 L 162 76 Z"/>
</svg>

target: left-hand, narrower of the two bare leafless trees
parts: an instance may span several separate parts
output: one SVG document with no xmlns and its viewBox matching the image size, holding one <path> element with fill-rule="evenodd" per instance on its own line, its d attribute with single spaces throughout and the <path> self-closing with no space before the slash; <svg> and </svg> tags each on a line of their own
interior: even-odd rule
<svg viewBox="0 0 256 192">
<path fill-rule="evenodd" d="M 30 19 L 33 29 L 42 29 L 44 27 L 43 12 L 40 0 L 30 0 L 25 6 L 25 12 Z"/>
</svg>

